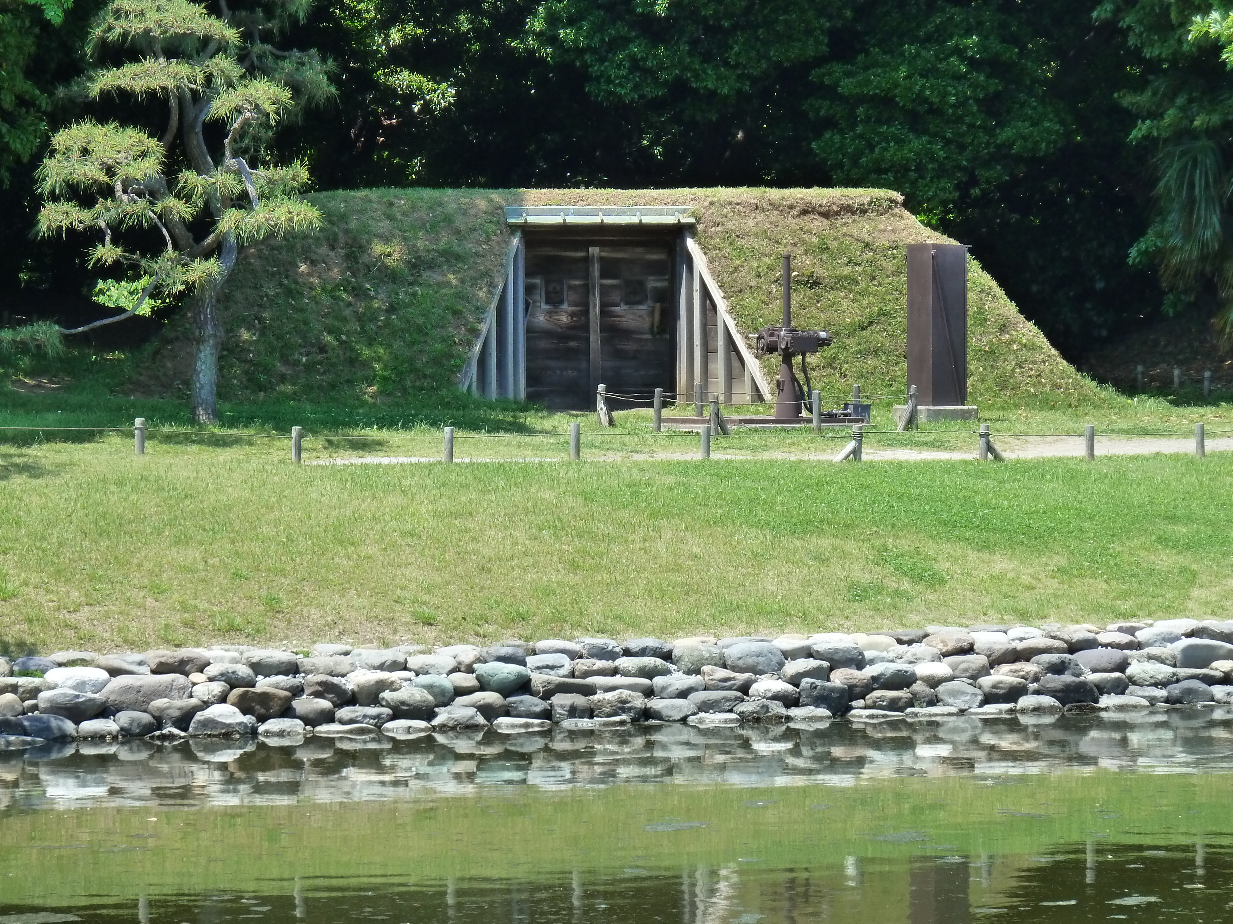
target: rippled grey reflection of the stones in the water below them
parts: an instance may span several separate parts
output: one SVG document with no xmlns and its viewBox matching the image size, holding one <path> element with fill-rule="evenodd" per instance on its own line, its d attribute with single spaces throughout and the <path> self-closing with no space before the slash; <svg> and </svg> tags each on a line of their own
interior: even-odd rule
<svg viewBox="0 0 1233 924">
<path fill-rule="evenodd" d="M 655 726 L 621 732 L 435 734 L 0 752 L 0 809 L 74 804 L 292 804 L 466 795 L 491 786 L 853 785 L 894 776 L 1233 770 L 1233 710 L 1017 718 L 956 716 L 813 728 Z"/>
</svg>

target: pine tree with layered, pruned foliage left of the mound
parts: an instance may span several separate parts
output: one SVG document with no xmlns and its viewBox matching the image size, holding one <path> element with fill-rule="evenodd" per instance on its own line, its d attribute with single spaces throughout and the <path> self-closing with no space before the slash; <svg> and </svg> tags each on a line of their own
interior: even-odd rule
<svg viewBox="0 0 1233 924">
<path fill-rule="evenodd" d="M 334 94 L 316 52 L 274 44 L 309 2 L 215 0 L 212 11 L 189 0 L 115 0 L 90 38 L 92 55 L 115 60 L 89 76 L 89 94 L 129 96 L 165 127 L 154 136 L 83 120 L 55 134 L 39 168 L 39 234 L 90 234 L 90 266 L 123 274 L 95 294 L 120 313 L 52 333 L 80 334 L 187 298 L 199 423 L 217 419 L 218 296 L 240 250 L 322 222 L 298 196 L 306 166 L 271 160 L 280 117 Z"/>
</svg>

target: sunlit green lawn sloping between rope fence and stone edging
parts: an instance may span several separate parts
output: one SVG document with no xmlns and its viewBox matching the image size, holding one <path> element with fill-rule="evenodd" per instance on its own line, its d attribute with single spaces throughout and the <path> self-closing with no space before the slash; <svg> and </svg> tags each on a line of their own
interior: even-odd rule
<svg viewBox="0 0 1233 924">
<path fill-rule="evenodd" d="M 142 458 L 126 435 L 0 448 L 0 644 L 1104 623 L 1227 616 L 1233 584 L 1233 457 L 1221 453 L 1001 466 L 287 456 L 284 440 L 231 437 L 158 436 Z"/>
</svg>

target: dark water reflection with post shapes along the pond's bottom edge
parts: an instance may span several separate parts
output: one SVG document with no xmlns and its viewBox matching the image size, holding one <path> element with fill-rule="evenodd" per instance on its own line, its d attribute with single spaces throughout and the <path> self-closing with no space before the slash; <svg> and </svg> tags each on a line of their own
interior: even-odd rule
<svg viewBox="0 0 1233 924">
<path fill-rule="evenodd" d="M 173 894 L 136 903 L 41 912 L 0 906 L 0 922 L 339 920 L 448 924 L 1070 924 L 1101 920 L 1228 920 L 1226 845 L 1068 844 L 1043 856 L 852 859 L 811 867 L 625 869 L 544 881 L 449 878 L 350 887 L 343 881 L 271 883 L 256 893 Z M 136 907 L 134 907 L 136 906 Z M 18 917 L 23 915 L 23 917 Z"/>
</svg>

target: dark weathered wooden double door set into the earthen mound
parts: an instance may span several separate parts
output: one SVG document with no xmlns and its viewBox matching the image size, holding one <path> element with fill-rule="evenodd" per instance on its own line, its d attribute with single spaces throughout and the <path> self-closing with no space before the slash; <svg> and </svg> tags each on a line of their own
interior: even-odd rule
<svg viewBox="0 0 1233 924">
<path fill-rule="evenodd" d="M 528 239 L 526 400 L 586 410 L 599 383 L 642 399 L 656 388 L 671 392 L 673 254 L 666 239 Z"/>
</svg>

